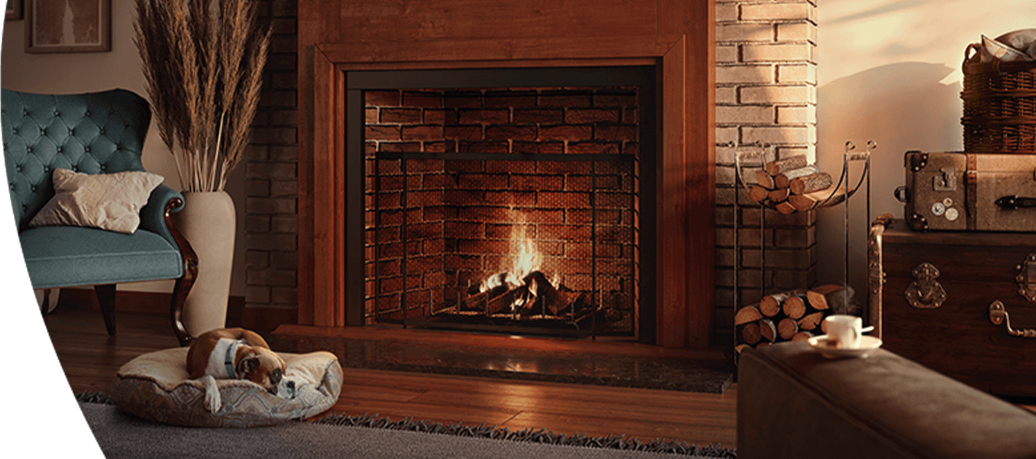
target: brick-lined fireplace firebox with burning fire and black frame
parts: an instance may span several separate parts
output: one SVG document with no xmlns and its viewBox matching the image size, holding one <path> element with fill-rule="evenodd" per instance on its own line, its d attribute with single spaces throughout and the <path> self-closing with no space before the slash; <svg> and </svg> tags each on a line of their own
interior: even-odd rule
<svg viewBox="0 0 1036 459">
<path fill-rule="evenodd" d="M 364 222 L 350 314 L 655 341 L 654 66 L 347 71 L 345 85 L 347 190 L 363 202 L 346 218 Z"/>
</svg>

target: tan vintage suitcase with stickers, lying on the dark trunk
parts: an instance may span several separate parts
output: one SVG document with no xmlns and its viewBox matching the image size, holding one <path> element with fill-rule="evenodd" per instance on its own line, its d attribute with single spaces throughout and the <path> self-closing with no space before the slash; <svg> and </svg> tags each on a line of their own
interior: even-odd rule
<svg viewBox="0 0 1036 459">
<path fill-rule="evenodd" d="M 908 151 L 903 166 L 915 231 L 1036 231 L 1036 154 Z"/>
</svg>

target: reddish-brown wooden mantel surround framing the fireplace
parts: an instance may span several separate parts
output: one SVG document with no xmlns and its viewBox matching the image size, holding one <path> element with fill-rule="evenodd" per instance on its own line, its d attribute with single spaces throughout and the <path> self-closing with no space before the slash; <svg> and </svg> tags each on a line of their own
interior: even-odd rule
<svg viewBox="0 0 1036 459">
<path fill-rule="evenodd" d="M 300 0 L 298 324 L 357 324 L 345 316 L 347 289 L 363 288 L 345 272 L 345 248 L 363 237 L 344 217 L 361 201 L 350 201 L 342 154 L 346 71 L 646 64 L 662 89 L 656 344 L 709 347 L 714 9 L 713 0 Z"/>
</svg>

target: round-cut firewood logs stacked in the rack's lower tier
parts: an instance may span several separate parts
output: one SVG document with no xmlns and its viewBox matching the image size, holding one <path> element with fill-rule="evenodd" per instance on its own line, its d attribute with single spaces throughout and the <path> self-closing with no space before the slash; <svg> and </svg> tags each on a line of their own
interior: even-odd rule
<svg viewBox="0 0 1036 459">
<path fill-rule="evenodd" d="M 827 316 L 859 314 L 859 306 L 848 303 L 853 293 L 852 287 L 830 284 L 812 290 L 766 295 L 758 304 L 741 308 L 735 315 L 735 349 L 741 352 L 746 347 L 806 341 L 827 334 L 824 322 Z"/>
</svg>

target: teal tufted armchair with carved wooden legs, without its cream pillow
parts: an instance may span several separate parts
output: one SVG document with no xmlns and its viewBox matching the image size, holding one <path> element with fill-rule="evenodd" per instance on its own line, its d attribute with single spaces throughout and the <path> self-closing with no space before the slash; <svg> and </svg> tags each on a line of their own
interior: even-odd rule
<svg viewBox="0 0 1036 459">
<path fill-rule="evenodd" d="M 85 94 L 0 93 L 4 169 L 22 255 L 33 289 L 94 286 L 108 334 L 115 335 L 115 285 L 176 279 L 170 303 L 173 332 L 186 345 L 180 321 L 198 262 L 170 214 L 183 196 L 159 184 L 133 234 L 96 228 L 28 228 L 54 196 L 55 168 L 86 174 L 144 171 L 141 152 L 151 120 L 147 101 L 123 89 Z"/>
</svg>

